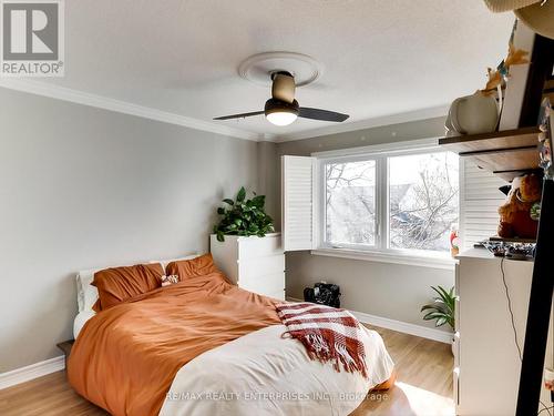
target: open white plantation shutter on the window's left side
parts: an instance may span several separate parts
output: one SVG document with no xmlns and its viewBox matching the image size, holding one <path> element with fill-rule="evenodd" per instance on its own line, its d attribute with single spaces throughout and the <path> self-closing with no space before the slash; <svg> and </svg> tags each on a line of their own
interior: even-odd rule
<svg viewBox="0 0 554 416">
<path fill-rule="evenodd" d="M 281 156 L 281 232 L 286 252 L 312 248 L 315 165 L 315 158 Z"/>
</svg>

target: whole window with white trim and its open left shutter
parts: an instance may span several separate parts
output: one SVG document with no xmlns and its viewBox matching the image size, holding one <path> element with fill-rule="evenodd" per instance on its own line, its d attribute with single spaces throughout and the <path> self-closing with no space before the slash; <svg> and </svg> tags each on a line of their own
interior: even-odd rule
<svg viewBox="0 0 554 416">
<path fill-rule="evenodd" d="M 285 251 L 452 268 L 459 161 L 437 140 L 281 162 Z"/>
</svg>

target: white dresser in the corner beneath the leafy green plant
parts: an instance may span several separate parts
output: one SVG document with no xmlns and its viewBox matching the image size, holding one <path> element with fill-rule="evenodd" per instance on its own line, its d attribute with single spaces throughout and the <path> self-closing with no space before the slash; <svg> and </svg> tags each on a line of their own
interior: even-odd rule
<svg viewBox="0 0 554 416">
<path fill-rule="evenodd" d="M 238 287 L 285 300 L 285 253 L 280 233 L 264 237 L 226 235 L 224 242 L 212 234 L 209 246 L 217 267 Z"/>
</svg>

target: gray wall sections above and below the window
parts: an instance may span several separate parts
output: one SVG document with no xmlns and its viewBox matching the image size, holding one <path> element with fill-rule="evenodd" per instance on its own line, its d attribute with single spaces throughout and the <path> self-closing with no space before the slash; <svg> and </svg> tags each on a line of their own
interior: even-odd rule
<svg viewBox="0 0 554 416">
<path fill-rule="evenodd" d="M 277 154 L 279 159 L 284 154 L 310 155 L 327 150 L 440 136 L 443 132 L 444 119 L 437 118 L 284 142 L 277 145 Z M 277 164 L 279 170 L 280 163 Z M 277 201 L 280 199 L 278 187 Z M 287 253 L 286 261 L 287 296 L 301 298 L 304 287 L 325 280 L 340 285 L 342 305 L 347 308 L 423 326 L 432 326 L 421 319 L 419 312 L 433 295 L 429 286 L 454 284 L 453 272 L 447 270 L 325 257 L 309 252 Z"/>
</svg>

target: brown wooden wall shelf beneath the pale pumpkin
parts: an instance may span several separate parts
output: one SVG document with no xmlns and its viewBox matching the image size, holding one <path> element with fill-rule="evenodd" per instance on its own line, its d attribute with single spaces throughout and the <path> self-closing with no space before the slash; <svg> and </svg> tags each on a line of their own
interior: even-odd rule
<svg viewBox="0 0 554 416">
<path fill-rule="evenodd" d="M 538 168 L 538 128 L 523 128 L 439 140 L 441 146 L 470 158 L 478 166 L 511 182 Z"/>
</svg>

